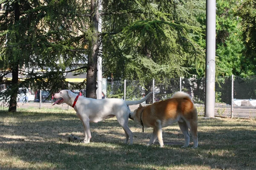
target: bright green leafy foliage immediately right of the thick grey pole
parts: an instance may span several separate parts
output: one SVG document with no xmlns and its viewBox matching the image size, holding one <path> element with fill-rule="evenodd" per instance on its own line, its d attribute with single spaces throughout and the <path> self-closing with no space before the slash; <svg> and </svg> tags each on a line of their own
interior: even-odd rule
<svg viewBox="0 0 256 170">
<path fill-rule="evenodd" d="M 243 50 L 241 18 L 236 15 L 238 0 L 217 0 L 216 56 L 220 68 L 218 75 L 241 75 Z"/>
</svg>

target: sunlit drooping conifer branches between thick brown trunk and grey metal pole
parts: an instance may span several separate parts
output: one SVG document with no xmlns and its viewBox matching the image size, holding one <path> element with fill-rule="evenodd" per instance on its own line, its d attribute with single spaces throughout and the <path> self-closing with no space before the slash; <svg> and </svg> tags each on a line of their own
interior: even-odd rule
<svg viewBox="0 0 256 170">
<path fill-rule="evenodd" d="M 196 42 L 202 37 L 193 12 L 197 6 L 186 6 L 191 3 L 104 1 L 104 12 L 112 14 L 103 17 L 105 74 L 144 82 L 197 73 L 204 67 L 204 51 Z"/>
</svg>

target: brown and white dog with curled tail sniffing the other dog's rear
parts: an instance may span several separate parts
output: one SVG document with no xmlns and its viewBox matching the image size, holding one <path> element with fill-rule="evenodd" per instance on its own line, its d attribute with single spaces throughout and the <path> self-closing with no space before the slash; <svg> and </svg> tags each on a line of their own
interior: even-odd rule
<svg viewBox="0 0 256 170">
<path fill-rule="evenodd" d="M 160 147 L 163 147 L 162 127 L 178 122 L 185 137 L 183 147 L 189 145 L 189 129 L 194 142 L 193 148 L 198 147 L 198 113 L 189 94 L 176 92 L 171 99 L 155 102 L 145 107 L 140 105 L 133 113 L 130 113 L 129 118 L 139 125 L 154 128 L 147 146 L 154 144 L 158 138 Z"/>
</svg>

